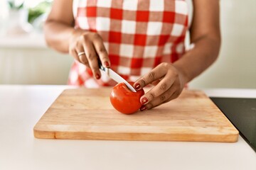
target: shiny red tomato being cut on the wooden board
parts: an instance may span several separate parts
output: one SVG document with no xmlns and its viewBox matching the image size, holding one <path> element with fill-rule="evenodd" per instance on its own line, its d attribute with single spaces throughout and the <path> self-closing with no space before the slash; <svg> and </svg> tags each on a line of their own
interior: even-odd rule
<svg viewBox="0 0 256 170">
<path fill-rule="evenodd" d="M 133 86 L 134 82 L 129 82 Z M 144 95 L 144 90 L 130 91 L 124 83 L 119 83 L 112 89 L 110 101 L 112 106 L 124 114 L 132 114 L 142 106 L 139 99 Z"/>
</svg>

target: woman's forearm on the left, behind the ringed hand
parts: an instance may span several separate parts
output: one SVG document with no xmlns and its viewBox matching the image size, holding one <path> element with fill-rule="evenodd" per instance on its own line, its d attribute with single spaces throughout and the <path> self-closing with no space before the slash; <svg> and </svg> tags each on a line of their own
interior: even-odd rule
<svg viewBox="0 0 256 170">
<path fill-rule="evenodd" d="M 44 32 L 46 43 L 59 52 L 68 53 L 70 37 L 75 29 L 58 21 L 46 21 Z"/>
</svg>

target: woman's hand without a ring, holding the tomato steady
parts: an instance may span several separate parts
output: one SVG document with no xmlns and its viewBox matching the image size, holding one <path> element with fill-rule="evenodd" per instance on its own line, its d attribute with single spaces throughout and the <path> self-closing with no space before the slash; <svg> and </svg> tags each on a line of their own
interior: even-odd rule
<svg viewBox="0 0 256 170">
<path fill-rule="evenodd" d="M 140 98 L 143 105 L 141 111 L 177 98 L 186 84 L 186 79 L 173 64 L 164 62 L 137 80 L 134 88 L 139 90 L 148 84 L 156 84 L 156 86 Z"/>
</svg>

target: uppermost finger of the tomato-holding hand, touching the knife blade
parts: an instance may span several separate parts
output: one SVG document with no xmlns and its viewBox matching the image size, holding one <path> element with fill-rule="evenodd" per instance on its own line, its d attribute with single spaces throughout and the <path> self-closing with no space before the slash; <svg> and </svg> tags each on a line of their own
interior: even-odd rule
<svg viewBox="0 0 256 170">
<path fill-rule="evenodd" d="M 139 80 L 135 81 L 134 88 L 137 90 L 142 89 L 147 84 L 150 84 L 151 82 L 154 82 L 158 79 L 161 79 L 161 77 L 164 77 L 164 75 L 167 72 L 166 69 L 167 63 L 162 63 L 156 66 L 154 69 L 151 70 L 148 74 L 144 75 Z"/>
</svg>

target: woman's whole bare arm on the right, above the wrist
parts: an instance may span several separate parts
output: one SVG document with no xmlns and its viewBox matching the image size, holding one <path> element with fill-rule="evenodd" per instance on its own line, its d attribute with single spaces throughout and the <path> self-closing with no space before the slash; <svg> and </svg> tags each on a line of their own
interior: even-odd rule
<svg viewBox="0 0 256 170">
<path fill-rule="evenodd" d="M 186 83 L 206 70 L 216 60 L 220 50 L 219 1 L 193 0 L 193 6 L 190 33 L 195 47 L 174 63 Z"/>
</svg>

